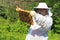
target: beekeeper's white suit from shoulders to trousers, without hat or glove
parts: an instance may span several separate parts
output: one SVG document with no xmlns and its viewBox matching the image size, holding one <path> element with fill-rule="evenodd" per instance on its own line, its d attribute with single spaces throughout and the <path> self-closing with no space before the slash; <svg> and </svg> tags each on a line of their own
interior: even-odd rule
<svg viewBox="0 0 60 40">
<path fill-rule="evenodd" d="M 34 25 L 30 26 L 29 32 L 26 36 L 26 40 L 48 40 L 48 31 L 51 29 L 52 18 L 48 15 L 35 15 L 36 17 L 33 17 Z M 38 23 L 42 23 L 43 27 Z"/>
</svg>

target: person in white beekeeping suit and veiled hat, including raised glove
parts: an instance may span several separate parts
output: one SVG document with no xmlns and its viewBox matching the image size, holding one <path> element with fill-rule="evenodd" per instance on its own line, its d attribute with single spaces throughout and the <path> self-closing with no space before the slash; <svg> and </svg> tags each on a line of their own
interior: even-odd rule
<svg viewBox="0 0 60 40">
<path fill-rule="evenodd" d="M 30 12 L 34 25 L 30 26 L 26 35 L 26 40 L 48 40 L 48 31 L 52 26 L 52 13 L 50 8 L 44 2 L 34 7 L 34 11 Z"/>
</svg>

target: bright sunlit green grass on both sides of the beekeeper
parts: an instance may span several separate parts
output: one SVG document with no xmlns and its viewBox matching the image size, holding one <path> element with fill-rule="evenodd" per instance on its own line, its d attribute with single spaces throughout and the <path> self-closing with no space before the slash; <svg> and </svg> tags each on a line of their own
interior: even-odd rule
<svg viewBox="0 0 60 40">
<path fill-rule="evenodd" d="M 22 24 L 19 20 L 10 24 L 9 20 L 0 17 L 0 40 L 25 40 L 28 29 Z M 49 31 L 48 37 L 49 40 L 60 40 L 60 34 L 53 31 Z"/>
</svg>

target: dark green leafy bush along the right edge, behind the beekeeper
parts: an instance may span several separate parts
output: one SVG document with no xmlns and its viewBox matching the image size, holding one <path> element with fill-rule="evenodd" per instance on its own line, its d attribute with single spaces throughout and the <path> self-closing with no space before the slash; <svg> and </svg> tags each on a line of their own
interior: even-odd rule
<svg viewBox="0 0 60 40">
<path fill-rule="evenodd" d="M 60 33 L 60 3 L 54 4 L 53 6 L 53 30 L 57 33 Z"/>
</svg>

